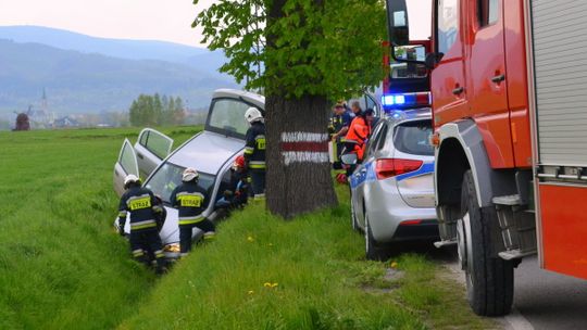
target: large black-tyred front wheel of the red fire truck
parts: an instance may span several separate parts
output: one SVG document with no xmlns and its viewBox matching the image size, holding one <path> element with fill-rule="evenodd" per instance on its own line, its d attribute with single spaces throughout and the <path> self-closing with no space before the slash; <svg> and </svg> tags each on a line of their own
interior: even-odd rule
<svg viewBox="0 0 587 330">
<path fill-rule="evenodd" d="M 469 304 L 480 316 L 509 314 L 513 301 L 513 264 L 491 256 L 489 224 L 498 219 L 495 211 L 479 207 L 471 170 L 463 178 L 461 211 L 457 239 Z"/>
</svg>

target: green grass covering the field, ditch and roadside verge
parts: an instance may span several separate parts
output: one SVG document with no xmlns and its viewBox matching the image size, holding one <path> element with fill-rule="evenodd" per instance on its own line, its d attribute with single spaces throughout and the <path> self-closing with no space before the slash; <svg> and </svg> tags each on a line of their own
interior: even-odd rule
<svg viewBox="0 0 587 330">
<path fill-rule="evenodd" d="M 294 221 L 249 206 L 155 278 L 112 228 L 113 163 L 138 131 L 0 132 L 0 329 L 495 328 L 425 256 L 396 258 L 399 278 L 364 261 L 345 189 Z"/>
</svg>

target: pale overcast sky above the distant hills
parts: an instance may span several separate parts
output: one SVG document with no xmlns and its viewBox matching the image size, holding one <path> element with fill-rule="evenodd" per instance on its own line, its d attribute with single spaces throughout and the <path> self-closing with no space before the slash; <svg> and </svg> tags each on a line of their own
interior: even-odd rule
<svg viewBox="0 0 587 330">
<path fill-rule="evenodd" d="M 412 39 L 426 38 L 430 1 L 411 1 Z M 39 25 L 95 37 L 203 47 L 191 22 L 215 0 L 199 2 L 196 7 L 191 0 L 0 0 L 0 25 Z M 425 25 L 413 26 L 417 14 L 417 21 Z"/>
</svg>

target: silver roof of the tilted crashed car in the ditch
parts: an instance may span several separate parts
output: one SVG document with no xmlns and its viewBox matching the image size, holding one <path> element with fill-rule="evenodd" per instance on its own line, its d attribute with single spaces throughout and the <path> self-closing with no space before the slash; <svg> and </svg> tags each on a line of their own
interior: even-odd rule
<svg viewBox="0 0 587 330">
<path fill-rule="evenodd" d="M 177 148 L 167 162 L 216 175 L 226 162 L 245 147 L 241 139 L 203 130 Z"/>
</svg>

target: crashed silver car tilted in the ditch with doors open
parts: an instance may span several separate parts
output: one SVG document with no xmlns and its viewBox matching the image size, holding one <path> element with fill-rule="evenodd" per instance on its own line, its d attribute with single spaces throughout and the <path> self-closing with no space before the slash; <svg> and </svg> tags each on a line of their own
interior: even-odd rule
<svg viewBox="0 0 587 330">
<path fill-rule="evenodd" d="M 124 178 L 134 174 L 143 180 L 143 186 L 161 196 L 167 217 L 160 231 L 166 256 L 174 257 L 179 251 L 179 230 L 177 210 L 171 206 L 170 195 L 182 182 L 182 173 L 186 167 L 193 167 L 200 175 L 199 185 L 209 191 L 211 201 L 204 216 L 214 220 L 215 201 L 230 181 L 230 166 L 236 156 L 242 154 L 245 135 L 249 124 L 245 112 L 251 106 L 264 111 L 265 98 L 252 92 L 220 89 L 212 97 L 204 129 L 171 152 L 173 140 L 152 129 L 143 129 L 133 145 L 125 139 L 118 160 L 114 165 L 114 190 L 124 193 Z M 220 193 L 218 193 L 220 192 Z M 126 221 L 125 231 L 129 232 L 130 221 Z M 114 226 L 117 227 L 117 221 Z M 192 236 L 201 236 L 193 229 Z"/>
</svg>

